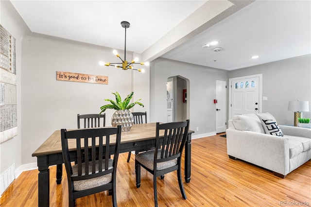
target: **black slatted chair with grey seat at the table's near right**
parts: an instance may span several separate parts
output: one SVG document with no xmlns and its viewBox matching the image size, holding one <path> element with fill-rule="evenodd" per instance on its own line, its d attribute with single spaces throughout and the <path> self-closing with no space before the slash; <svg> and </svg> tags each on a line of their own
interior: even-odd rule
<svg viewBox="0 0 311 207">
<path fill-rule="evenodd" d="M 160 131 L 164 131 L 163 142 Z M 140 166 L 154 175 L 155 207 L 157 207 L 156 177 L 177 171 L 179 189 L 187 199 L 181 178 L 181 155 L 187 140 L 189 120 L 171 123 L 156 123 L 155 149 L 135 156 L 136 186 L 140 187 Z"/>
</svg>

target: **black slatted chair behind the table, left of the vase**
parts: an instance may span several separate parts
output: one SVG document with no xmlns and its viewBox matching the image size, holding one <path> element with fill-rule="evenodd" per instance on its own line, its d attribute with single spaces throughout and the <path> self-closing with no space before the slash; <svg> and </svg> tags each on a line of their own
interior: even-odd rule
<svg viewBox="0 0 311 207">
<path fill-rule="evenodd" d="M 84 128 L 103 127 L 106 123 L 106 114 L 78 114 L 78 129 L 80 129 L 81 120 L 83 120 Z M 103 121 L 102 125 L 101 121 Z"/>
</svg>

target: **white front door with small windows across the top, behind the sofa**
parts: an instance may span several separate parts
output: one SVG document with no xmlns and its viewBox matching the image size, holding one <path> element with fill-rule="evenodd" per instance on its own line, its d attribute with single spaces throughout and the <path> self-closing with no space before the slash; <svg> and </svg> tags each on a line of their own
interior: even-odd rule
<svg viewBox="0 0 311 207">
<path fill-rule="evenodd" d="M 261 77 L 247 76 L 230 79 L 231 109 L 229 119 L 234 115 L 261 112 Z M 229 95 L 230 95 L 229 94 Z"/>
</svg>

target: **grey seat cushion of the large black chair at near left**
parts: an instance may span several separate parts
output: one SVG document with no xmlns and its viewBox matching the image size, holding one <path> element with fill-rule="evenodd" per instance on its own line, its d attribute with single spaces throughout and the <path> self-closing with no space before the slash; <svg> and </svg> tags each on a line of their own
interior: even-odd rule
<svg viewBox="0 0 311 207">
<path fill-rule="evenodd" d="M 113 160 L 109 159 L 108 166 L 112 167 L 112 163 L 113 163 Z M 92 162 L 89 162 L 88 166 L 89 166 L 88 171 L 92 172 Z M 105 166 L 105 160 L 103 160 L 103 169 L 104 169 L 104 166 Z M 98 172 L 98 161 L 96 161 L 96 172 Z M 83 173 L 85 173 L 85 163 L 82 163 L 82 174 Z M 72 174 L 78 175 L 78 165 L 72 166 Z M 98 186 L 105 185 L 111 181 L 112 181 L 111 173 L 100 176 L 100 177 L 91 178 L 91 179 L 77 180 L 77 181 L 73 181 L 73 190 L 80 191 L 80 190 L 95 188 Z"/>
</svg>

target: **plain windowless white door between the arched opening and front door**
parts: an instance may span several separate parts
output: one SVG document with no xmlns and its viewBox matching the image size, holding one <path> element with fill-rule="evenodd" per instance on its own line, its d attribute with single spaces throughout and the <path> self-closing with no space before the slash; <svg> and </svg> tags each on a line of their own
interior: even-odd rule
<svg viewBox="0 0 311 207">
<path fill-rule="evenodd" d="M 226 130 L 226 82 L 216 81 L 216 133 Z"/>
</svg>

